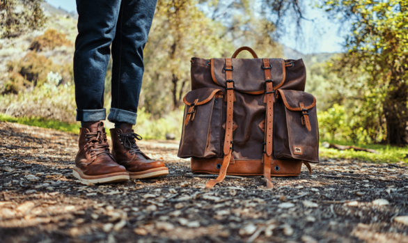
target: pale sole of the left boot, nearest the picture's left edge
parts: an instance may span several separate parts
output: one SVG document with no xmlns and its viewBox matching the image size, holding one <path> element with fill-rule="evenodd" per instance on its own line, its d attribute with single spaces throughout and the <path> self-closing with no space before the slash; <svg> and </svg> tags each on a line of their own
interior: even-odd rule
<svg viewBox="0 0 408 243">
<path fill-rule="evenodd" d="M 77 166 L 72 168 L 72 175 L 85 185 L 124 182 L 130 180 L 129 173 L 127 172 L 117 172 L 105 175 L 85 175 Z"/>
</svg>

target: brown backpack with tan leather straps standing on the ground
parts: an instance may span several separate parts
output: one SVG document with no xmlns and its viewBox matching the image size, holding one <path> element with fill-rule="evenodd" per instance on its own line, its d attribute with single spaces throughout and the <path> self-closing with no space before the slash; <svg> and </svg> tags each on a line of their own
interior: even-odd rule
<svg viewBox="0 0 408 243">
<path fill-rule="evenodd" d="M 242 50 L 253 58 L 235 58 Z M 319 162 L 316 100 L 304 92 L 301 59 L 258 58 L 240 47 L 232 58 L 191 58 L 191 91 L 178 157 L 193 173 L 297 176 Z"/>
</svg>

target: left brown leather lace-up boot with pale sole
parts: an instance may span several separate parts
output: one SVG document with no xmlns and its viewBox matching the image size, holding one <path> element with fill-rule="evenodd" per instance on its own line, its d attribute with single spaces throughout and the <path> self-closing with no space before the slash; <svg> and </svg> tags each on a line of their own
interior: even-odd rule
<svg viewBox="0 0 408 243">
<path fill-rule="evenodd" d="M 84 184 L 122 182 L 129 180 L 126 168 L 115 162 L 102 122 L 81 127 L 79 151 L 72 174 Z"/>
</svg>

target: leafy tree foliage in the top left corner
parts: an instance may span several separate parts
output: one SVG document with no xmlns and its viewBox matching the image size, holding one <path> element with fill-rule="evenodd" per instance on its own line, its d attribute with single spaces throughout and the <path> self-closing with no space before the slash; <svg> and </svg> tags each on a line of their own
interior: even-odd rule
<svg viewBox="0 0 408 243">
<path fill-rule="evenodd" d="M 40 29 L 46 21 L 44 0 L 0 1 L 0 38 L 13 38 Z"/>
</svg>

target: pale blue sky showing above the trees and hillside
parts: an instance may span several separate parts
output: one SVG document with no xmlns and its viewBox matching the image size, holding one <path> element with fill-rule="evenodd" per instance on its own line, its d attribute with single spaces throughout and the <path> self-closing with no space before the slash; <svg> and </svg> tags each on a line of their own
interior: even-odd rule
<svg viewBox="0 0 408 243">
<path fill-rule="evenodd" d="M 46 0 L 52 6 L 61 7 L 65 10 L 77 11 L 75 0 Z M 306 13 L 304 17 L 312 19 L 311 21 L 304 20 L 302 22 L 302 35 L 297 38 L 295 31 L 295 23 L 290 24 L 285 29 L 283 35 L 278 42 L 297 50 L 303 54 L 313 54 L 322 52 L 342 52 L 342 45 L 344 38 L 338 33 L 340 25 L 329 21 L 322 10 L 311 7 L 313 1 L 306 6 Z"/>
</svg>

